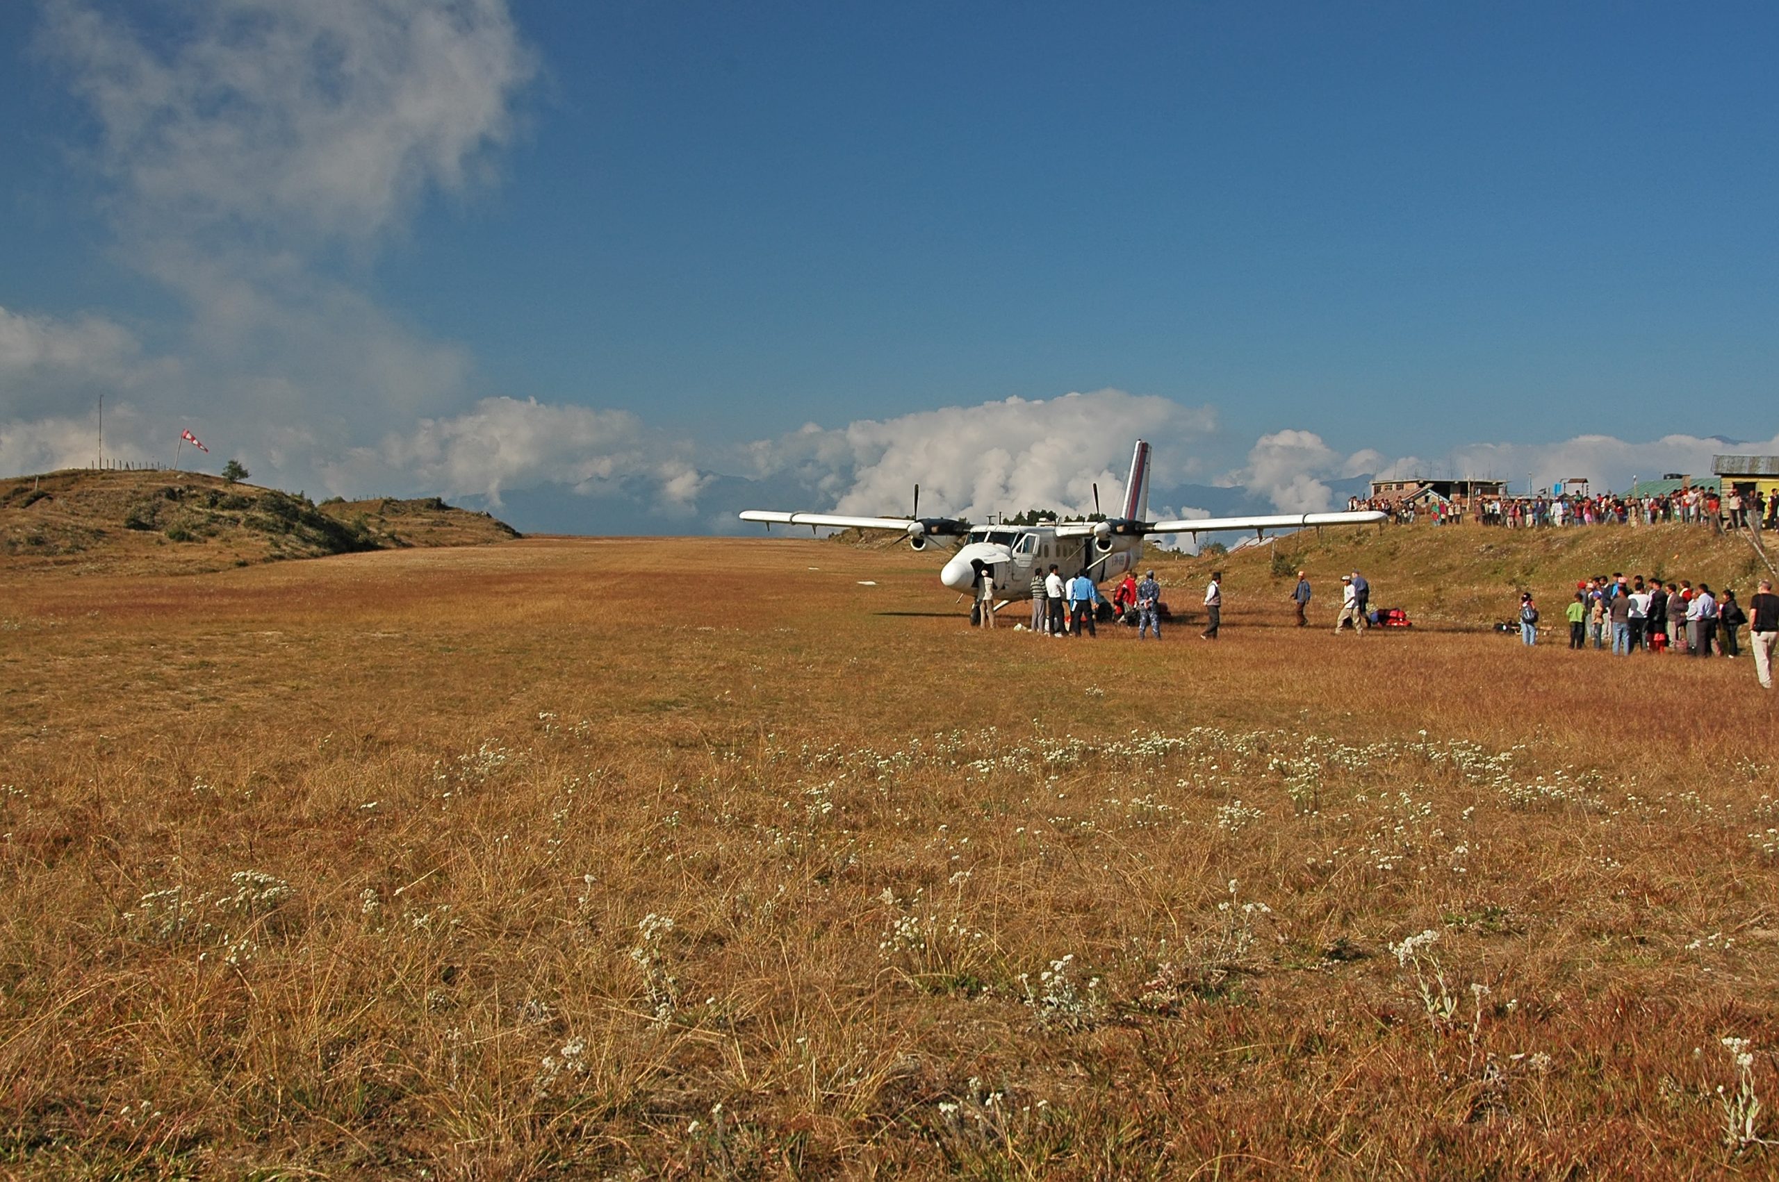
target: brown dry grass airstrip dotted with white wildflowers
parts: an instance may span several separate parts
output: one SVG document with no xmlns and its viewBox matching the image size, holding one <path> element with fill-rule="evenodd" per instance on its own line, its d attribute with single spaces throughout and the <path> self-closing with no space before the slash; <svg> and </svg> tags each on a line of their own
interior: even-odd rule
<svg viewBox="0 0 1779 1182">
<path fill-rule="evenodd" d="M 0 567 L 0 1170 L 1768 1175 L 1774 700 L 1478 627 L 1745 547 L 1295 546 L 1324 627 L 1256 553 L 1158 645 L 811 540 Z"/>
</svg>

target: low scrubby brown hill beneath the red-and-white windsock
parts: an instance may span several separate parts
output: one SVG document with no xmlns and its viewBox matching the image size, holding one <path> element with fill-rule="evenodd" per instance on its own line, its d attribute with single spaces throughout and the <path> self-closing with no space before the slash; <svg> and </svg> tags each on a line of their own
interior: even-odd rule
<svg viewBox="0 0 1779 1182">
<path fill-rule="evenodd" d="M 0 480 L 0 565 L 199 572 L 254 562 L 519 537 L 438 498 L 315 505 L 205 473 L 62 469 Z"/>
</svg>

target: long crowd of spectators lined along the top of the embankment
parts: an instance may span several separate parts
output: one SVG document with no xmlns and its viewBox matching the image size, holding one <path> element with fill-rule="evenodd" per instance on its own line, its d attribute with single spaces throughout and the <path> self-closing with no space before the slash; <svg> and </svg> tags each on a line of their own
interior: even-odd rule
<svg viewBox="0 0 1779 1182">
<path fill-rule="evenodd" d="M 1594 524 L 1704 524 L 1715 530 L 1758 526 L 1779 530 L 1779 494 L 1756 491 L 1742 496 L 1715 489 L 1686 487 L 1658 496 L 1491 496 L 1475 498 L 1469 507 L 1436 498 L 1429 505 L 1391 498 L 1348 498 L 1347 508 L 1375 508 L 1398 524 L 1427 519 L 1434 524 L 1473 521 L 1485 526 L 1541 528 Z"/>
</svg>

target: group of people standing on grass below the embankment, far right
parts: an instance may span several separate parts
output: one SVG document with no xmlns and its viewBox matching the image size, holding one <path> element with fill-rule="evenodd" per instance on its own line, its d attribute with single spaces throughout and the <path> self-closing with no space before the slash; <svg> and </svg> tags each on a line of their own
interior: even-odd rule
<svg viewBox="0 0 1779 1182">
<path fill-rule="evenodd" d="M 1542 613 L 1532 592 L 1519 595 L 1519 636 L 1526 645 L 1539 640 Z M 1569 624 L 1569 647 L 1605 651 L 1610 643 L 1615 656 L 1637 651 L 1676 656 L 1742 656 L 1742 629 L 1751 626 L 1754 672 L 1763 688 L 1772 690 L 1772 654 L 1779 636 L 1779 597 L 1772 581 L 1761 579 L 1759 590 L 1743 608 L 1733 588 L 1713 592 L 1710 583 L 1694 587 L 1690 579 L 1644 579 L 1603 574 L 1576 583 L 1574 595 L 1564 604 Z"/>
</svg>

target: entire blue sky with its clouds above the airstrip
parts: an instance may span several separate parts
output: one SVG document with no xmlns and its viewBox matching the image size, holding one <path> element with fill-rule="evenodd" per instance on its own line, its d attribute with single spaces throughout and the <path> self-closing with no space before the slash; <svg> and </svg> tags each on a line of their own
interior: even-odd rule
<svg viewBox="0 0 1779 1182">
<path fill-rule="evenodd" d="M 1779 450 L 1774 44 L 1768 5 L 20 2 L 0 467 L 85 462 L 98 393 L 125 459 L 190 425 L 585 531 L 1080 507 L 1135 432 L 1172 508 Z"/>
</svg>

